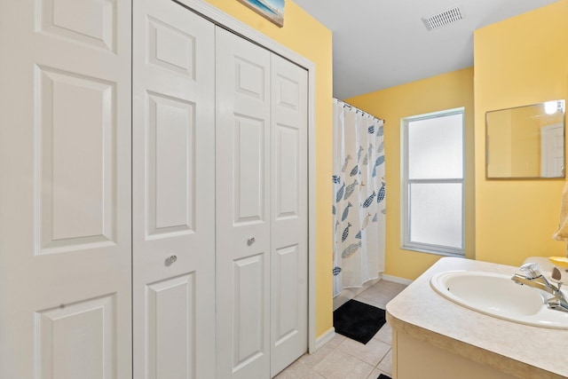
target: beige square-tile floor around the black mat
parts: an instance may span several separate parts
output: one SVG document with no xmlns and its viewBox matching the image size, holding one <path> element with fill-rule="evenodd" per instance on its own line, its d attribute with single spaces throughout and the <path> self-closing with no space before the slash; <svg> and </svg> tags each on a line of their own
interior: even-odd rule
<svg viewBox="0 0 568 379">
<path fill-rule="evenodd" d="M 361 303 L 384 309 L 406 286 L 380 280 L 355 297 Z M 335 334 L 333 339 L 313 354 L 304 354 L 276 379 L 376 379 L 392 375 L 392 329 L 384 324 L 367 344 Z"/>
</svg>

